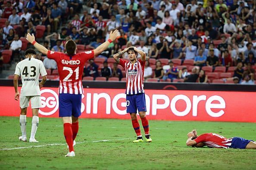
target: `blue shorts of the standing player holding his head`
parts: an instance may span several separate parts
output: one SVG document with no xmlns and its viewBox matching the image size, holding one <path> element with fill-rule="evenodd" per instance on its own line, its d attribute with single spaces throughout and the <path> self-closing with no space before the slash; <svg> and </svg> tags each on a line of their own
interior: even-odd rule
<svg viewBox="0 0 256 170">
<path fill-rule="evenodd" d="M 126 107 L 128 113 L 147 112 L 144 93 L 126 94 Z"/>
</svg>

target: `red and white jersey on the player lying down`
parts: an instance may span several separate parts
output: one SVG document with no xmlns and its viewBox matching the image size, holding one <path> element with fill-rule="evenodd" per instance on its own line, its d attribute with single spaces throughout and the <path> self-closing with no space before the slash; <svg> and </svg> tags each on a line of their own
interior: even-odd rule
<svg viewBox="0 0 256 170">
<path fill-rule="evenodd" d="M 197 143 L 204 143 L 210 148 L 229 148 L 233 138 L 225 138 L 219 134 L 207 133 L 201 134 L 195 139 Z"/>
</svg>

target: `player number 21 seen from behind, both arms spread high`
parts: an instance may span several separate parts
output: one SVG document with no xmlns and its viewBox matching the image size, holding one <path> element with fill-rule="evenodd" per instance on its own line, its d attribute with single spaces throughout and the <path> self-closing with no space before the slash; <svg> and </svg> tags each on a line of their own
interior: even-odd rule
<svg viewBox="0 0 256 170">
<path fill-rule="evenodd" d="M 56 61 L 59 71 L 59 117 L 62 117 L 64 136 L 69 147 L 66 157 L 74 157 L 73 141 L 78 133 L 78 117 L 81 115 L 81 100 L 84 92 L 82 75 L 84 64 L 91 58 L 105 51 L 109 44 L 116 39 L 119 31 L 109 34 L 109 39 L 96 49 L 76 54 L 76 43 L 70 39 L 65 44 L 65 54 L 52 52 L 35 41 L 34 35 L 28 33 L 26 39 L 48 58 Z"/>
</svg>

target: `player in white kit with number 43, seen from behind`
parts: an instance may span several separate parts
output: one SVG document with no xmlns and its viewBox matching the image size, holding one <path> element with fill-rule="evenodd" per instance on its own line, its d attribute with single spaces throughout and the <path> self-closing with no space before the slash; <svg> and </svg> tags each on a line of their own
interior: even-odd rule
<svg viewBox="0 0 256 170">
<path fill-rule="evenodd" d="M 19 140 L 24 142 L 27 141 L 26 135 L 26 115 L 27 108 L 29 106 L 29 101 L 31 100 L 32 108 L 32 127 L 31 127 L 31 136 L 29 142 L 38 142 L 34 139 L 34 136 L 37 131 L 39 117 L 38 110 L 41 107 L 41 93 L 40 88 L 43 87 L 44 83 L 47 80 L 47 72 L 44 68 L 42 61 L 35 59 L 37 53 L 34 49 L 28 49 L 25 52 L 25 60 L 20 61 L 16 65 L 13 85 L 15 88 L 15 100 L 19 100 L 21 112 L 19 117 L 19 124 L 22 131 L 22 136 L 19 137 Z M 43 77 L 42 81 L 39 83 L 39 76 Z M 21 93 L 18 91 L 18 79 L 21 76 L 22 79 L 22 88 Z"/>
</svg>

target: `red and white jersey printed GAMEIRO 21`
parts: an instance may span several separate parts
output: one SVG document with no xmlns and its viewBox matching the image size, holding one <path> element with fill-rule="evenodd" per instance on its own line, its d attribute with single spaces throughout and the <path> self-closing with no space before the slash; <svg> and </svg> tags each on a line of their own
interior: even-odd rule
<svg viewBox="0 0 256 170">
<path fill-rule="evenodd" d="M 67 55 L 48 51 L 47 57 L 56 61 L 59 72 L 59 93 L 83 94 L 82 76 L 84 64 L 94 58 L 94 51 Z"/>
</svg>

